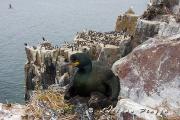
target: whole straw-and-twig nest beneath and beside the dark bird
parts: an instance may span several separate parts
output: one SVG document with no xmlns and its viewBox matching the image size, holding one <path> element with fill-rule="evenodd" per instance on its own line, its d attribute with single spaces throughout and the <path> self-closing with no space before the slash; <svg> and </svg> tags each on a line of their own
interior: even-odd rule
<svg viewBox="0 0 180 120">
<path fill-rule="evenodd" d="M 94 120 L 116 120 L 112 106 L 93 110 L 92 116 L 86 114 L 88 107 L 83 110 L 83 113 L 78 113 L 77 109 L 78 105 L 70 104 L 64 100 L 63 92 L 53 89 L 36 90 L 27 104 L 23 119 L 79 120 L 80 118 L 93 118 Z"/>
</svg>

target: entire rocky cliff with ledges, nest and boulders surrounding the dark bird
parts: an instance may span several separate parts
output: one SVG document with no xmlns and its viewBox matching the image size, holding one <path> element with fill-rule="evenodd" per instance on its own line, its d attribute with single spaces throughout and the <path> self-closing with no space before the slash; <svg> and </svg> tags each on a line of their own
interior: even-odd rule
<svg viewBox="0 0 180 120">
<path fill-rule="evenodd" d="M 0 119 L 92 119 L 93 109 L 80 102 L 86 98 L 74 98 L 80 103 L 76 114 L 63 99 L 75 73 L 69 56 L 86 52 L 92 60 L 112 67 L 121 86 L 116 107 L 95 111 L 95 119 L 179 120 L 179 15 L 179 0 L 150 0 L 142 16 L 132 9 L 119 16 L 116 32 L 79 32 L 73 43 L 62 46 L 46 40 L 37 46 L 25 44 L 29 102 L 27 106 L 0 104 Z"/>
</svg>

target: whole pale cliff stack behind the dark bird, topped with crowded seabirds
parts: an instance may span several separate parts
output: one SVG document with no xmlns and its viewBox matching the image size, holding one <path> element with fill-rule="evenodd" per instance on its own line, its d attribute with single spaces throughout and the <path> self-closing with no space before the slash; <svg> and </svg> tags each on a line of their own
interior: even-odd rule
<svg viewBox="0 0 180 120">
<path fill-rule="evenodd" d="M 71 54 L 85 52 L 92 60 L 111 68 L 112 64 L 127 52 L 122 41 L 127 41 L 128 46 L 129 36 L 125 37 L 117 32 L 85 31 L 78 33 L 72 44 L 66 43 L 62 47 L 53 46 L 48 41 L 33 47 L 25 46 L 25 99 L 30 99 L 33 90 L 47 89 L 52 84 L 69 84 L 75 72 L 69 65 Z"/>
</svg>

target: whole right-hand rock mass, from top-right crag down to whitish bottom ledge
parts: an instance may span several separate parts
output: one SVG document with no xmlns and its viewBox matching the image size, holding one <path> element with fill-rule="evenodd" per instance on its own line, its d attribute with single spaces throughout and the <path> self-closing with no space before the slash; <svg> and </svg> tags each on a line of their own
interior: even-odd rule
<svg viewBox="0 0 180 120">
<path fill-rule="evenodd" d="M 179 0 L 152 0 L 137 21 L 133 51 L 113 64 L 119 119 L 180 119 Z"/>
</svg>

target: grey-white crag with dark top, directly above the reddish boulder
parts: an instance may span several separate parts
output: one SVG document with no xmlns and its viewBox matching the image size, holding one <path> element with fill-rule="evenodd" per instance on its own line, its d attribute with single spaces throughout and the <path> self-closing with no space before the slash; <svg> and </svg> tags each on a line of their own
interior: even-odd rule
<svg viewBox="0 0 180 120">
<path fill-rule="evenodd" d="M 138 19 L 132 47 L 150 37 L 179 34 L 179 0 L 151 0 L 147 10 Z"/>
</svg>

